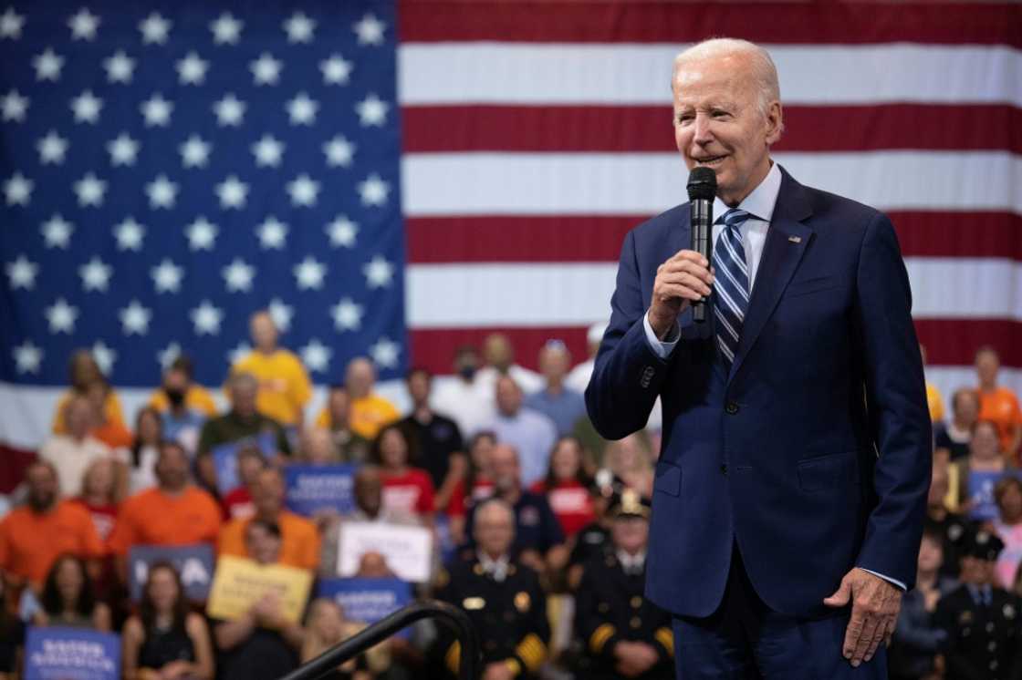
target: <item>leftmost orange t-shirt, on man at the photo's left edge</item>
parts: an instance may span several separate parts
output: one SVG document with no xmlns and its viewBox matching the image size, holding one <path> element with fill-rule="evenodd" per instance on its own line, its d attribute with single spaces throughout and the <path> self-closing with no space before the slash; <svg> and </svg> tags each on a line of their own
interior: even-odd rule
<svg viewBox="0 0 1022 680">
<path fill-rule="evenodd" d="M 0 567 L 36 586 L 64 552 L 86 560 L 103 555 L 92 516 L 78 503 L 60 501 L 45 515 L 26 505 L 0 521 Z"/>
</svg>

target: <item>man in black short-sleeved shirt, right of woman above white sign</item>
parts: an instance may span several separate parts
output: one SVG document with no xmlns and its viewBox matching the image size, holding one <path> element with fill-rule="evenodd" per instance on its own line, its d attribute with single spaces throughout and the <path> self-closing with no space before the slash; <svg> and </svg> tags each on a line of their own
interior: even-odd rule
<svg viewBox="0 0 1022 680">
<path fill-rule="evenodd" d="M 418 451 L 417 464 L 429 474 L 436 489 L 435 507 L 447 506 L 454 486 L 465 475 L 467 462 L 461 431 L 453 420 L 429 405 L 432 376 L 413 369 L 406 379 L 412 397 L 412 412 L 399 426 Z"/>
</svg>

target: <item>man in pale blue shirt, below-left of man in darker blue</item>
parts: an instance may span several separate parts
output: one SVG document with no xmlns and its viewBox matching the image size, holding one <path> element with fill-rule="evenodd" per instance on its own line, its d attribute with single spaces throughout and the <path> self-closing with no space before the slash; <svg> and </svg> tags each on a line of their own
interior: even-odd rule
<svg viewBox="0 0 1022 680">
<path fill-rule="evenodd" d="M 518 451 L 522 484 L 531 486 L 547 472 L 557 429 L 549 418 L 522 405 L 521 389 L 512 379 L 499 378 L 496 389 L 497 415 L 486 429 Z"/>
</svg>

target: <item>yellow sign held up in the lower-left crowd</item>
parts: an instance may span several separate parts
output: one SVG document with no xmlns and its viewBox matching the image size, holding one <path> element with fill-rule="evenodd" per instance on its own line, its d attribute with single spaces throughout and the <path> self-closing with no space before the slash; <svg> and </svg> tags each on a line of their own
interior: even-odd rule
<svg viewBox="0 0 1022 680">
<path fill-rule="evenodd" d="M 312 572 L 304 569 L 223 555 L 217 561 L 206 613 L 214 619 L 239 619 L 263 597 L 276 593 L 284 618 L 298 623 L 312 584 Z"/>
</svg>

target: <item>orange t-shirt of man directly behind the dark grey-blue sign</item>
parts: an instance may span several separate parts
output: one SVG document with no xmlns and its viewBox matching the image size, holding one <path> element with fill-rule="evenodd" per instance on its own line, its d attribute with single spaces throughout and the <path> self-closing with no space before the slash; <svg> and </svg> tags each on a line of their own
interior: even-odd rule
<svg viewBox="0 0 1022 680">
<path fill-rule="evenodd" d="M 205 491 L 187 487 L 170 496 L 159 487 L 136 493 L 121 505 L 108 546 L 125 554 L 132 545 L 189 545 L 217 543 L 220 506 Z"/>
</svg>

